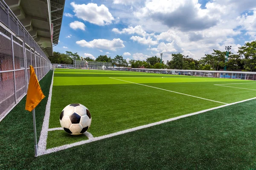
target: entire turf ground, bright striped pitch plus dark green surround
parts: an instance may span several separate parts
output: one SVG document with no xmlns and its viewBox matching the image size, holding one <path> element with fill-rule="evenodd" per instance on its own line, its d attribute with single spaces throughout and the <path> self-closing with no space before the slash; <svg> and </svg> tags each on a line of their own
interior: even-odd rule
<svg viewBox="0 0 256 170">
<path fill-rule="evenodd" d="M 51 90 L 52 73 L 40 81 L 46 98 L 36 108 L 41 155 L 34 157 L 24 98 L 0 122 L 0 169 L 256 168 L 253 81 L 55 70 Z M 90 109 L 86 135 L 60 127 L 61 110 L 73 102 Z"/>
</svg>

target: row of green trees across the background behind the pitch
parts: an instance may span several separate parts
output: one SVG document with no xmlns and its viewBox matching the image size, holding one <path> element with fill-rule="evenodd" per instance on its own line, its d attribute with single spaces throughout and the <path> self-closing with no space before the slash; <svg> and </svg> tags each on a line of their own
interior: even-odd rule
<svg viewBox="0 0 256 170">
<path fill-rule="evenodd" d="M 211 54 L 205 54 L 201 59 L 192 59 L 183 54 L 172 54 L 170 60 L 162 61 L 160 57 L 153 56 L 145 61 L 131 59 L 126 61 L 122 55 L 116 55 L 113 59 L 107 55 L 100 55 L 95 60 L 90 57 L 80 57 L 77 53 L 66 51 L 66 54 L 53 52 L 53 56 L 49 57 L 52 63 L 73 64 L 73 59 L 112 62 L 112 65 L 132 68 L 167 68 L 167 69 L 183 69 L 183 70 L 215 70 L 223 69 L 226 65 L 228 71 L 256 71 L 256 41 L 247 42 L 239 48 L 237 54 L 229 53 L 228 61 L 225 63 L 226 51 L 214 50 Z"/>
</svg>

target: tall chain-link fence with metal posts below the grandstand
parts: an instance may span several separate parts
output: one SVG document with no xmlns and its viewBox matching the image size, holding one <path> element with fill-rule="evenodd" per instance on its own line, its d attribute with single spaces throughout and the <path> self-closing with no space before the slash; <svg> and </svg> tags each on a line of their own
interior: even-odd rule
<svg viewBox="0 0 256 170">
<path fill-rule="evenodd" d="M 51 69 L 48 57 L 0 0 L 0 120 L 26 95 L 30 73 L 38 80 Z"/>
</svg>

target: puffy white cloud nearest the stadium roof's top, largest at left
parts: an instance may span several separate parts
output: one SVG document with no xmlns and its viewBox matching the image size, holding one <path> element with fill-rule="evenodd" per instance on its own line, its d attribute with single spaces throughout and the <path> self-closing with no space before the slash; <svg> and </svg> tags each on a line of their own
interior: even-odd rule
<svg viewBox="0 0 256 170">
<path fill-rule="evenodd" d="M 74 2 L 70 3 L 74 8 L 76 17 L 88 21 L 99 26 L 104 26 L 112 23 L 114 17 L 108 11 L 105 5 L 98 6 L 96 3 L 76 4 Z"/>
</svg>

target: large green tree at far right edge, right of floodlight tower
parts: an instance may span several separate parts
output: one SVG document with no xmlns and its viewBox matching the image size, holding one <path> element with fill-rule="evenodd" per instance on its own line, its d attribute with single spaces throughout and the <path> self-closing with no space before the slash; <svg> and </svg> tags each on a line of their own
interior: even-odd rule
<svg viewBox="0 0 256 170">
<path fill-rule="evenodd" d="M 238 54 L 244 64 L 244 71 L 256 71 L 256 41 L 245 43 L 239 48 Z"/>
</svg>

